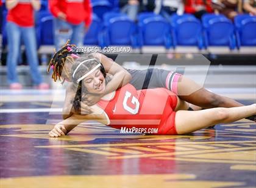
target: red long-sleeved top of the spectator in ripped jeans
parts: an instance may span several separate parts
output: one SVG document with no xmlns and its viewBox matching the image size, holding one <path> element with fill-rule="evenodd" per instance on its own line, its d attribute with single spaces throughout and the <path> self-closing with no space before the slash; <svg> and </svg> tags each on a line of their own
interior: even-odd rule
<svg viewBox="0 0 256 188">
<path fill-rule="evenodd" d="M 90 0 L 49 0 L 49 9 L 56 18 L 60 12 L 65 13 L 66 21 L 78 25 L 85 22 L 87 27 L 91 24 Z"/>
</svg>

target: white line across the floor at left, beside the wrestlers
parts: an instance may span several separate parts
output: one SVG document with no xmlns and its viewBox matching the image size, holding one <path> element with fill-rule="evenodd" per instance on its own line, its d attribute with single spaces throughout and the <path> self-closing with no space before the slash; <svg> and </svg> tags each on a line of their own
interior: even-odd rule
<svg viewBox="0 0 256 188">
<path fill-rule="evenodd" d="M 62 112 L 62 108 L 0 109 L 0 113 Z"/>
</svg>

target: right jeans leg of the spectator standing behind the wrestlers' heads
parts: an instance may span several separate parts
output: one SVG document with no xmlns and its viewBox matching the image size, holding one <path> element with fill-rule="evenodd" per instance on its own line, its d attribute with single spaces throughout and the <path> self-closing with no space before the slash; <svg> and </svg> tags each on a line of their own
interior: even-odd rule
<svg viewBox="0 0 256 188">
<path fill-rule="evenodd" d="M 84 37 L 85 37 L 85 24 L 84 22 L 79 25 L 72 26 L 73 33 L 71 36 L 71 44 L 76 44 L 77 46 L 84 45 Z"/>
</svg>

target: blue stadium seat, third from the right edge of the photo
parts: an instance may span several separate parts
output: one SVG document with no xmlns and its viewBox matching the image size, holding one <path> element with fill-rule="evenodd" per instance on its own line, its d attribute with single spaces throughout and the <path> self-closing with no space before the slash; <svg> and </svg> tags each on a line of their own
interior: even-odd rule
<svg viewBox="0 0 256 188">
<path fill-rule="evenodd" d="M 193 15 L 171 16 L 171 26 L 174 48 L 177 45 L 196 45 L 203 49 L 202 25 Z"/>
</svg>

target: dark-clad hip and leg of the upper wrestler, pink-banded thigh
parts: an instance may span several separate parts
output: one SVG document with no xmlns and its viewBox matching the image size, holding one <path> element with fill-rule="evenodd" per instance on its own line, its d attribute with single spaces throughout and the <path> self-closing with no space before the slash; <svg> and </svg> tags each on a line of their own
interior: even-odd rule
<svg viewBox="0 0 256 188">
<path fill-rule="evenodd" d="M 238 107 L 240 102 L 210 92 L 193 80 L 163 69 L 128 70 L 132 84 L 137 90 L 165 87 L 191 104 L 205 109 L 213 107 Z"/>
</svg>

